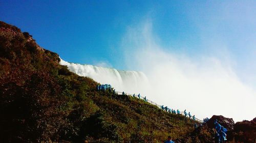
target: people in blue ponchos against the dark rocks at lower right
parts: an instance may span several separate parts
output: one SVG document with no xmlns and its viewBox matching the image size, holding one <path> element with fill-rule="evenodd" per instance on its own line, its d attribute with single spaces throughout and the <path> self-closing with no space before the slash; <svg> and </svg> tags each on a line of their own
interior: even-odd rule
<svg viewBox="0 0 256 143">
<path fill-rule="evenodd" d="M 227 129 L 221 126 L 217 119 L 214 122 L 216 133 L 215 133 L 215 139 L 217 142 L 225 142 L 227 140 Z"/>
</svg>

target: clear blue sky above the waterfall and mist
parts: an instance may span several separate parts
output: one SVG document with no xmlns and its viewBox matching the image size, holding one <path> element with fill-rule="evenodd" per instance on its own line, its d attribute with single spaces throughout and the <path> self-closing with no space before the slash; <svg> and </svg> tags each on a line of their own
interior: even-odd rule
<svg viewBox="0 0 256 143">
<path fill-rule="evenodd" d="M 165 50 L 228 58 L 255 83 L 255 1 L 0 1 L 0 20 L 65 61 L 124 70 L 123 36 L 147 19 Z"/>
</svg>

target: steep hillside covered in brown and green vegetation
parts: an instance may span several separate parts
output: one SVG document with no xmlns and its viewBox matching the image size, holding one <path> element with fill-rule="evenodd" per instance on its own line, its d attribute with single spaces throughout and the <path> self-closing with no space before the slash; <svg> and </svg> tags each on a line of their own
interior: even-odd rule
<svg viewBox="0 0 256 143">
<path fill-rule="evenodd" d="M 97 92 L 97 82 L 58 62 L 28 33 L 0 21 L 0 142 L 160 142 L 193 131 L 182 116 Z"/>
</svg>

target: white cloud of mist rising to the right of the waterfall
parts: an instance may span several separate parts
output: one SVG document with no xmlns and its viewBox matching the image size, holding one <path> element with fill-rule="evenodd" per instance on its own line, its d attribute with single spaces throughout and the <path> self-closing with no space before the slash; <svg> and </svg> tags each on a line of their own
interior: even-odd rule
<svg viewBox="0 0 256 143">
<path fill-rule="evenodd" d="M 125 63 L 147 76 L 151 85 L 148 98 L 186 109 L 199 119 L 223 115 L 237 122 L 256 117 L 256 92 L 232 68 L 236 63 L 228 50 L 216 45 L 223 58 L 210 52 L 190 56 L 159 43 L 151 21 L 128 27 L 123 37 Z"/>
</svg>

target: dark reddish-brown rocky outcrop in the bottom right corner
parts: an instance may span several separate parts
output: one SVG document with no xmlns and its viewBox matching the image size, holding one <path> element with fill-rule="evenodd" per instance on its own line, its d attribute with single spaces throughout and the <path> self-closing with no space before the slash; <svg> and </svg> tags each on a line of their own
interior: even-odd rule
<svg viewBox="0 0 256 143">
<path fill-rule="evenodd" d="M 231 118 L 223 116 L 212 116 L 207 123 L 199 126 L 193 132 L 188 134 L 182 139 L 176 139 L 176 142 L 215 142 L 215 126 L 214 121 L 218 122 L 225 127 L 227 131 L 227 142 L 256 142 L 256 118 L 251 121 L 244 120 L 243 122 L 234 121 Z"/>
</svg>

